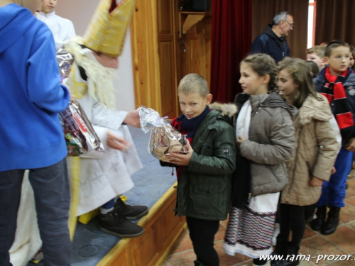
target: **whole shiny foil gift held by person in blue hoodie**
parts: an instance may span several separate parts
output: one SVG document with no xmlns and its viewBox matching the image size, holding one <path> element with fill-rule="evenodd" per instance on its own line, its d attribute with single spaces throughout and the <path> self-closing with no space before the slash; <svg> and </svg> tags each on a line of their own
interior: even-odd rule
<svg viewBox="0 0 355 266">
<path fill-rule="evenodd" d="M 74 57 L 70 52 L 60 49 L 57 52 L 57 62 L 60 70 L 60 81 L 67 82 Z M 80 156 L 90 150 L 104 152 L 97 133 L 77 101 L 71 100 L 67 109 L 59 114 L 65 135 L 68 156 Z"/>
</svg>

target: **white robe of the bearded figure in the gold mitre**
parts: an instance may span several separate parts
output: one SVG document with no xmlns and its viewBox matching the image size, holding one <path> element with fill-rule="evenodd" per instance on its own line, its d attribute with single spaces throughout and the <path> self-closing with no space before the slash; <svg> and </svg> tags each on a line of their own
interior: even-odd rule
<svg viewBox="0 0 355 266">
<path fill-rule="evenodd" d="M 75 71 L 75 74 L 77 82 L 85 82 L 80 77 L 79 70 Z M 77 216 L 80 216 L 131 189 L 131 174 L 141 170 L 143 166 L 133 145 L 129 128 L 122 125 L 127 112 L 111 110 L 99 104 L 89 94 L 78 101 L 105 148 L 105 153 L 92 150 L 80 157 L 80 200 L 77 206 Z M 132 147 L 126 152 L 109 148 L 107 131 L 126 139 Z"/>
</svg>

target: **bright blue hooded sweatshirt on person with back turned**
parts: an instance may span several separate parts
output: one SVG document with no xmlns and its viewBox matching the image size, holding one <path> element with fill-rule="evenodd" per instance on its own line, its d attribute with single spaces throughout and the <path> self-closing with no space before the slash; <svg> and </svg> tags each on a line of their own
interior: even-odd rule
<svg viewBox="0 0 355 266">
<path fill-rule="evenodd" d="M 0 8 L 0 171 L 65 157 L 58 113 L 69 99 L 48 26 L 17 4 Z"/>
</svg>

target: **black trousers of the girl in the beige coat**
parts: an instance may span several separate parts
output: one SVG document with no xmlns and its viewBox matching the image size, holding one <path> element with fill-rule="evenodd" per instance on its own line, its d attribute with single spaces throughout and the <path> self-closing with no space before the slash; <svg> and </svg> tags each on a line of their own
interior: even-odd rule
<svg viewBox="0 0 355 266">
<path fill-rule="evenodd" d="M 297 206 L 290 204 L 280 204 L 280 235 L 278 240 L 286 243 L 292 231 L 292 247 L 299 247 L 303 235 L 305 234 L 305 209 L 306 206 Z"/>
</svg>

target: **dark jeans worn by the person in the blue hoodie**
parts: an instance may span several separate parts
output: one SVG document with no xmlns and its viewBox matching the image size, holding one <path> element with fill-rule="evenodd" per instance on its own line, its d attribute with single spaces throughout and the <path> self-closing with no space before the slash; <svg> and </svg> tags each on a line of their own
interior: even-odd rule
<svg viewBox="0 0 355 266">
<path fill-rule="evenodd" d="M 0 172 L 0 266 L 9 266 L 15 239 L 17 212 L 25 170 Z M 67 226 L 70 193 L 66 159 L 48 167 L 31 169 L 44 265 L 70 265 L 71 243 Z"/>
</svg>

